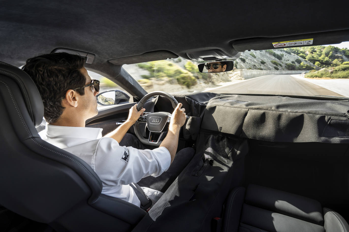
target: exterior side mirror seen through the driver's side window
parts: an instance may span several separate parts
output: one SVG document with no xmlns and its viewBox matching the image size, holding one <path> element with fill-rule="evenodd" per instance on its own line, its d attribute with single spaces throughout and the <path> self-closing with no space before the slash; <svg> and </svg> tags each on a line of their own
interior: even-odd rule
<svg viewBox="0 0 349 232">
<path fill-rule="evenodd" d="M 97 94 L 97 103 L 99 105 L 117 105 L 128 103 L 130 97 L 121 90 L 109 90 Z"/>
</svg>

